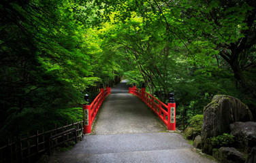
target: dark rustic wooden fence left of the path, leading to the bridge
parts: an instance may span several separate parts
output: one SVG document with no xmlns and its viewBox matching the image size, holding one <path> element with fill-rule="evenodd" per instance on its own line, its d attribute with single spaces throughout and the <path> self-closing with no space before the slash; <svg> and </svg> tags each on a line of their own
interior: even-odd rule
<svg viewBox="0 0 256 163">
<path fill-rule="evenodd" d="M 34 135 L 27 133 L 27 137 L 18 137 L 16 141 L 7 140 L 7 144 L 0 147 L 0 162 L 36 162 L 44 153 L 50 155 L 52 149 L 67 141 L 76 142 L 82 137 L 83 121 L 72 122 L 66 126 L 53 130 L 36 131 Z M 64 147 L 64 146 L 63 146 Z"/>
</svg>

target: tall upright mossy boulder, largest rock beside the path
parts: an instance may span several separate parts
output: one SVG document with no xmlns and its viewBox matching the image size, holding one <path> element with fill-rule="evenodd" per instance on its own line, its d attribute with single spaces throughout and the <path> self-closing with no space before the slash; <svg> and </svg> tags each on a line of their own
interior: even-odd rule
<svg viewBox="0 0 256 163">
<path fill-rule="evenodd" d="M 217 137 L 219 134 L 230 133 L 229 124 L 234 122 L 248 122 L 253 120 L 249 108 L 238 98 L 227 95 L 216 95 L 212 102 L 204 108 L 202 125 L 202 151 L 211 154 L 210 141 L 206 139 Z"/>
</svg>

